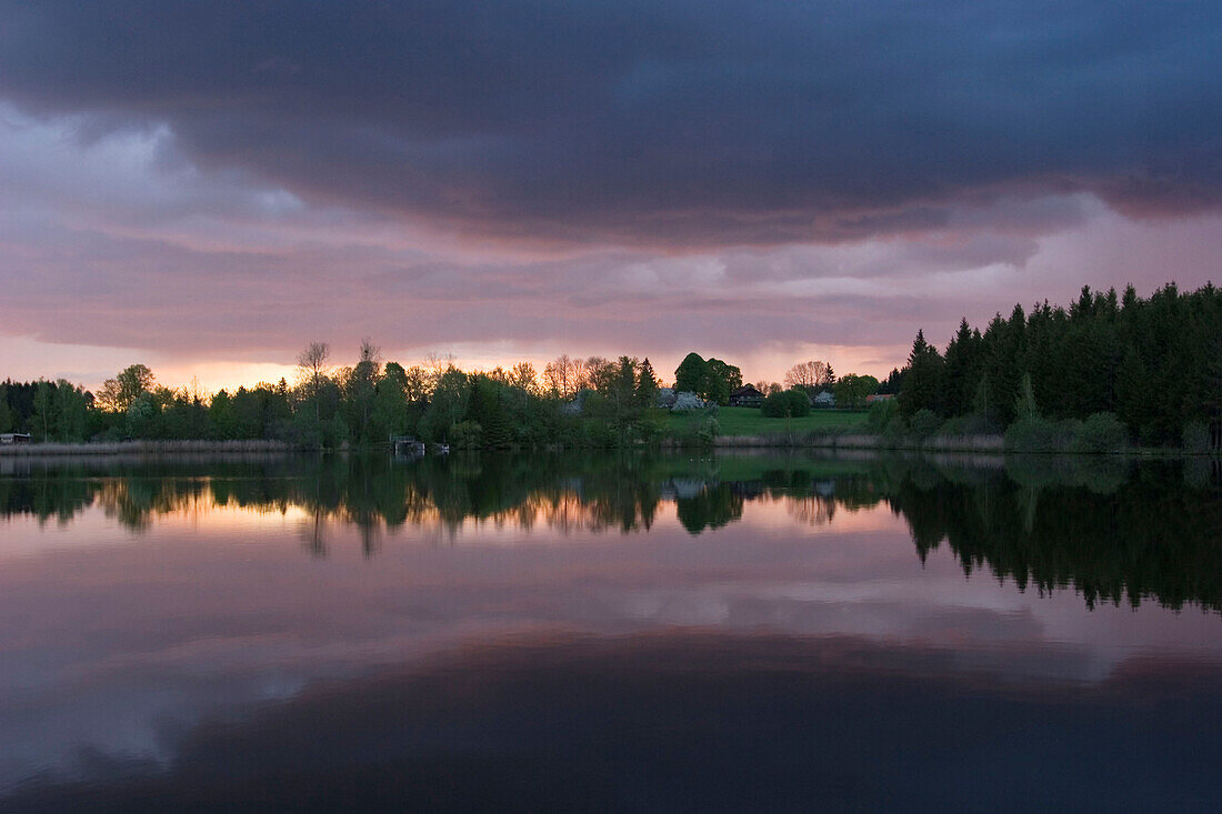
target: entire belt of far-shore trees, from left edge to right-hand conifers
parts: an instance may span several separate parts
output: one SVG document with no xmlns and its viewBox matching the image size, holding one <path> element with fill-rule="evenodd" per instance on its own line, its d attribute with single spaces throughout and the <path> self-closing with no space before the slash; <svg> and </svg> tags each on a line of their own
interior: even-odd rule
<svg viewBox="0 0 1222 814">
<path fill-rule="evenodd" d="M 661 381 L 649 359 L 561 356 L 539 372 L 464 372 L 451 359 L 403 367 L 362 343 L 351 367 L 310 343 L 293 383 L 200 394 L 171 390 L 134 364 L 97 392 L 65 380 L 0 385 L 0 433 L 34 441 L 244 440 L 306 449 L 385 444 L 411 435 L 466 447 L 624 446 L 656 441 L 673 425 L 659 408 Z M 679 407 L 704 411 L 683 440 L 708 442 L 716 406 L 744 383 L 742 370 L 689 353 L 675 370 Z M 1143 299 L 1083 288 L 1068 309 L 1015 306 L 985 328 L 964 319 L 945 351 L 918 331 L 908 363 L 882 381 L 837 376 L 830 364 L 796 364 L 785 384 L 759 381 L 761 414 L 809 412 L 820 394 L 842 408 L 891 395 L 866 431 L 895 445 L 935 435 L 1006 433 L 1011 449 L 1111 451 L 1130 442 L 1205 449 L 1222 414 L 1222 291 L 1174 284 Z M 705 407 L 709 405 L 709 407 Z M 1211 422 L 1215 427 L 1211 429 Z M 780 422 L 778 422 L 780 425 Z"/>
</svg>

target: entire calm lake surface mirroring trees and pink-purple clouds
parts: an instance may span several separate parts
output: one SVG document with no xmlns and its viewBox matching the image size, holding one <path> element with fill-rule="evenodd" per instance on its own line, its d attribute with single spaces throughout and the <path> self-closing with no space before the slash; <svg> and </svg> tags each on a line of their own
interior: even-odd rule
<svg viewBox="0 0 1222 814">
<path fill-rule="evenodd" d="M 0 458 L 0 812 L 1217 810 L 1218 466 Z"/>
</svg>

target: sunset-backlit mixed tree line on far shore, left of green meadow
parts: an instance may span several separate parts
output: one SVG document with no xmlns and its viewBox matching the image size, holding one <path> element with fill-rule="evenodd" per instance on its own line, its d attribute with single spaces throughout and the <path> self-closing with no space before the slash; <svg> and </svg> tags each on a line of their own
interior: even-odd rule
<svg viewBox="0 0 1222 814">
<path fill-rule="evenodd" d="M 468 373 L 452 358 L 403 367 L 363 341 L 352 365 L 312 342 L 296 381 L 211 395 L 166 387 L 133 364 L 90 394 L 66 381 L 0 385 L 0 431 L 35 441 L 247 440 L 307 449 L 370 446 L 395 436 L 468 447 L 617 446 L 656 435 L 659 380 L 649 359 L 563 356 L 540 376 L 523 362 Z M 580 395 L 579 409 L 573 411 Z"/>
</svg>

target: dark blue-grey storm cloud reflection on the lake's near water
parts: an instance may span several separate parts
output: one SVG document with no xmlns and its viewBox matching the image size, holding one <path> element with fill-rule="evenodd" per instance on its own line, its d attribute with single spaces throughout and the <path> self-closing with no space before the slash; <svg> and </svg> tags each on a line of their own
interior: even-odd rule
<svg viewBox="0 0 1222 814">
<path fill-rule="evenodd" d="M 849 637 L 535 638 L 319 682 L 0 812 L 1216 805 L 1217 673 L 1134 662 L 1086 698 Z"/>
</svg>

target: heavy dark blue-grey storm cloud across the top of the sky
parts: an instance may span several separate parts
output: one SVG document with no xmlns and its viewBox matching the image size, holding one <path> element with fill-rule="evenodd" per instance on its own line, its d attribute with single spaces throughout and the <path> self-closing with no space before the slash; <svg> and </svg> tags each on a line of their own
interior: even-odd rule
<svg viewBox="0 0 1222 814">
<path fill-rule="evenodd" d="M 957 202 L 1222 199 L 1216 2 L 0 4 L 82 137 L 500 237 L 860 240 Z M 1066 218 L 1072 218 L 1066 213 Z M 1014 249 L 1019 254 L 1020 247 Z"/>
</svg>

